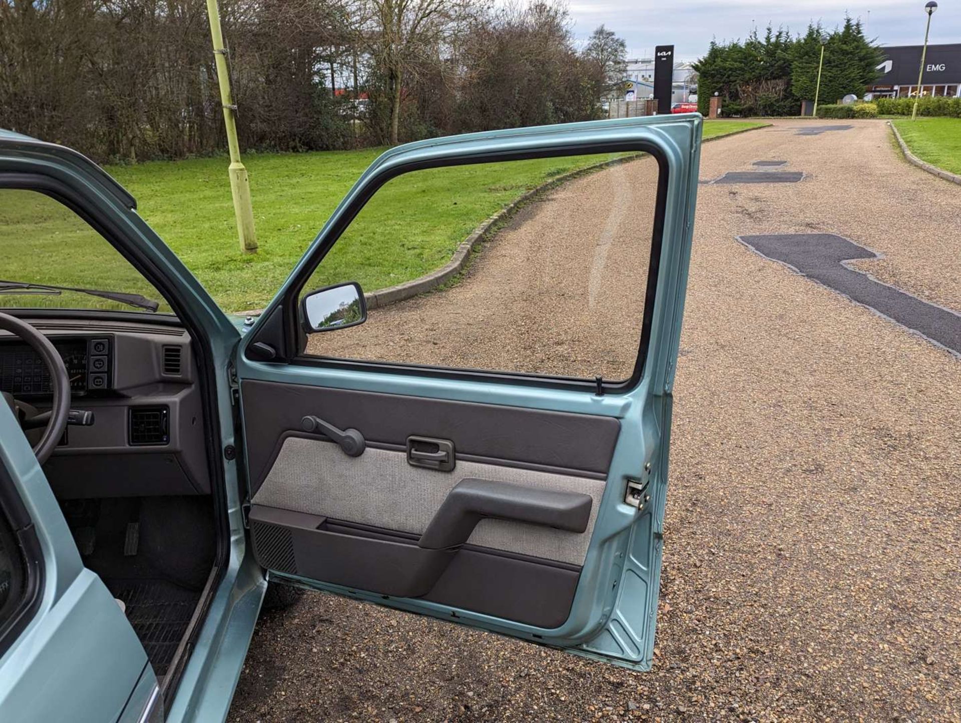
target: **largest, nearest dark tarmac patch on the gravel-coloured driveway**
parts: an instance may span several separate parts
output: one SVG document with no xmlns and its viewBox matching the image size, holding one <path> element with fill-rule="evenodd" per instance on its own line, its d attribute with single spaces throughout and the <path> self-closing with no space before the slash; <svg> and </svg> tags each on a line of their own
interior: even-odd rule
<svg viewBox="0 0 961 723">
<path fill-rule="evenodd" d="M 776 233 L 738 236 L 737 240 L 961 356 L 961 314 L 922 301 L 846 263 L 880 258 L 879 253 L 835 233 Z"/>
</svg>

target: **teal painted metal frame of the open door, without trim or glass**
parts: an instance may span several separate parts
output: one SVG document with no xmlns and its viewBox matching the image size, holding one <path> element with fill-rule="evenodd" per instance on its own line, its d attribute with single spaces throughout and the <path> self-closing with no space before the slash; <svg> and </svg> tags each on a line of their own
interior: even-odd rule
<svg viewBox="0 0 961 723">
<path fill-rule="evenodd" d="M 653 657 L 654 613 L 661 560 L 661 531 L 667 484 L 667 446 L 670 431 L 671 387 L 678 356 L 687 264 L 690 257 L 697 194 L 702 119 L 699 115 L 633 118 L 619 121 L 552 126 L 431 139 L 391 149 L 371 167 L 334 210 L 324 229 L 261 320 L 296 292 L 297 277 L 312 268 L 330 234 L 384 176 L 411 164 L 443 161 L 477 162 L 482 157 L 504 157 L 545 150 L 577 151 L 589 146 L 634 143 L 653 147 L 666 159 L 667 197 L 656 282 L 649 353 L 642 379 L 621 394 L 597 397 L 583 391 L 544 385 L 451 379 L 419 373 L 351 371 L 324 366 L 278 365 L 246 359 L 243 349 L 256 337 L 260 322 L 244 335 L 238 349 L 237 375 L 259 379 L 342 389 L 450 398 L 565 412 L 617 417 L 622 430 L 611 463 L 608 484 L 594 534 L 581 571 L 571 615 L 559 628 L 545 630 L 510 620 L 414 599 L 384 599 L 381 595 L 345 590 L 319 581 L 294 578 L 308 587 L 332 590 L 384 605 L 444 619 L 469 623 L 506 635 L 568 648 L 589 657 L 650 667 Z M 645 465 L 651 464 L 651 471 Z M 626 478 L 651 477 L 652 505 L 638 514 L 624 502 Z M 278 575 L 278 577 L 289 577 Z"/>
</svg>

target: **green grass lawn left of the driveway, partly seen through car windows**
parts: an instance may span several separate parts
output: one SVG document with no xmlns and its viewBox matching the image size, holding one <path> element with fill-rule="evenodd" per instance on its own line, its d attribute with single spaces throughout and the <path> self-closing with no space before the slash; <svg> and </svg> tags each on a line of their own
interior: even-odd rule
<svg viewBox="0 0 961 723">
<path fill-rule="evenodd" d="M 765 125 L 706 121 L 704 137 Z M 248 154 L 259 253 L 239 251 L 224 157 L 108 166 L 137 209 L 214 299 L 230 311 L 264 306 L 333 208 L 383 149 Z M 445 264 L 480 222 L 555 176 L 609 156 L 544 158 L 432 169 L 390 181 L 314 275 L 320 286 L 347 279 L 366 291 L 422 276 Z M 123 259 L 79 227 L 70 212 L 31 192 L 5 191 L 2 277 L 136 291 L 157 298 Z M 11 194 L 20 194 L 17 201 Z M 78 305 L 62 297 L 5 297 L 0 305 Z M 109 302 L 83 298 L 80 305 Z"/>
</svg>

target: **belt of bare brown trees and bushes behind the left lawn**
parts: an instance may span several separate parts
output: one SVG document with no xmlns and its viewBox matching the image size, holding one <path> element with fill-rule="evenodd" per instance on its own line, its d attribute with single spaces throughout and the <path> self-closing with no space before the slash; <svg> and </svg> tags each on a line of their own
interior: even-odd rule
<svg viewBox="0 0 961 723">
<path fill-rule="evenodd" d="M 492 1 L 220 0 L 241 145 L 594 117 L 599 66 L 563 6 Z M 103 161 L 222 151 L 205 0 L 0 0 L 0 128 Z"/>
</svg>

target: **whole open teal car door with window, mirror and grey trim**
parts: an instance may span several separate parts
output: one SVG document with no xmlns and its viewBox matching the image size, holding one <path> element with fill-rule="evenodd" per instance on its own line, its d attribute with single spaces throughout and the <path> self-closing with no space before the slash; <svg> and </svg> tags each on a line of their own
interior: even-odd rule
<svg viewBox="0 0 961 723">
<path fill-rule="evenodd" d="M 272 580 L 650 667 L 701 133 L 696 114 L 632 118 L 374 162 L 238 349 Z M 332 284 L 379 283 L 388 247 L 403 270 L 469 218 L 455 206 L 530 179 L 554 181 L 459 237 L 463 259 L 482 247 L 468 271 L 366 300 Z M 611 208 L 585 219 L 591 199 Z"/>
</svg>

